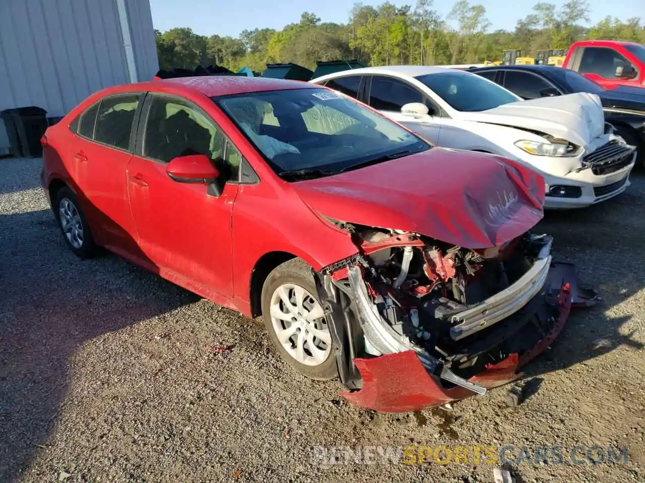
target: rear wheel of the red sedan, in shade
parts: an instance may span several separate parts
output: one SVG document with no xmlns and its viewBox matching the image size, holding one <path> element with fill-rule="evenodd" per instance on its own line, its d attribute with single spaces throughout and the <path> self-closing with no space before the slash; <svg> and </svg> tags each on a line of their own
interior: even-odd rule
<svg viewBox="0 0 645 483">
<path fill-rule="evenodd" d="M 74 191 L 66 186 L 59 189 L 56 193 L 54 213 L 70 250 L 80 258 L 90 258 L 96 247 Z"/>
</svg>

